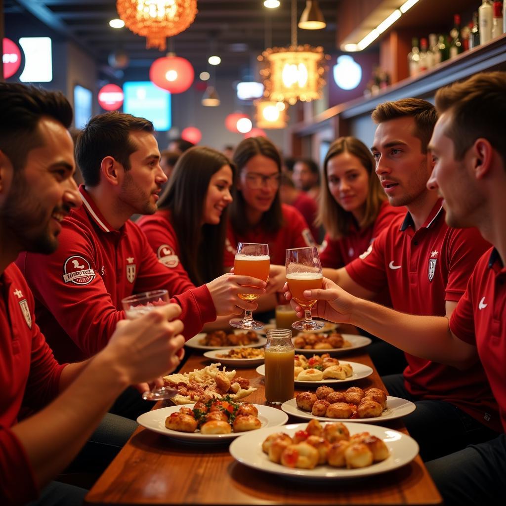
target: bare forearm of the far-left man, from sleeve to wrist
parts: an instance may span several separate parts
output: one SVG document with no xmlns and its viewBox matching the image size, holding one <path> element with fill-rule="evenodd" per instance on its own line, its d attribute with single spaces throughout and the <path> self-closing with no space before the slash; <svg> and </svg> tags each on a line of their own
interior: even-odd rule
<svg viewBox="0 0 506 506">
<path fill-rule="evenodd" d="M 28 454 L 40 487 L 70 463 L 114 399 L 129 385 L 104 354 L 75 365 L 64 375 L 63 384 L 60 382 L 61 386 L 72 382 L 72 388 L 12 428 Z"/>
</svg>

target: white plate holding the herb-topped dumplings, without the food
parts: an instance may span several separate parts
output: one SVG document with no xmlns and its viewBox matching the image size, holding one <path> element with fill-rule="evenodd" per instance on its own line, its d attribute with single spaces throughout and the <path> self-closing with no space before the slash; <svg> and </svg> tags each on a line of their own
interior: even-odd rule
<svg viewBox="0 0 506 506">
<path fill-rule="evenodd" d="M 178 412 L 182 407 L 193 408 L 195 404 L 185 404 L 184 406 L 168 406 L 166 408 L 153 409 L 147 413 L 141 414 L 137 418 L 137 423 L 142 425 L 150 431 L 169 436 L 173 439 L 191 443 L 217 443 L 223 440 L 234 439 L 245 432 L 231 432 L 230 434 L 200 434 L 200 432 L 178 432 L 165 427 L 165 418 L 172 413 Z M 272 406 L 263 406 L 261 404 L 254 404 L 258 409 L 258 418 L 262 422 L 262 429 L 275 428 L 280 425 L 286 424 L 288 415 L 283 413 L 280 409 L 273 408 Z M 258 429 L 261 430 L 261 429 Z"/>
</svg>

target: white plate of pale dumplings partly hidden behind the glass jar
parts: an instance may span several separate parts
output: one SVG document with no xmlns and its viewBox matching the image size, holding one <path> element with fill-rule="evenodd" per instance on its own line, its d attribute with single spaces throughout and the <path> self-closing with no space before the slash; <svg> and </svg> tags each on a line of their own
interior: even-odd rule
<svg viewBox="0 0 506 506">
<path fill-rule="evenodd" d="M 322 366 L 320 365 L 317 367 Z M 259 365 L 256 371 L 262 376 L 265 376 L 265 364 Z M 299 387 L 346 383 L 365 378 L 371 374 L 372 369 L 368 365 L 359 364 L 358 362 L 343 361 L 339 362 L 339 364 L 329 365 L 323 370 L 314 367 L 303 368 L 302 366 L 294 366 L 293 369 L 294 381 Z"/>
</svg>

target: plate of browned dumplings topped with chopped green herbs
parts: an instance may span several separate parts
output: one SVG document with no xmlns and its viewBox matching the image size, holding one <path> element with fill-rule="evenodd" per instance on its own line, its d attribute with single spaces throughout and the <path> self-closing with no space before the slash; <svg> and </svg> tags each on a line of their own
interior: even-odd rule
<svg viewBox="0 0 506 506">
<path fill-rule="evenodd" d="M 137 418 L 150 431 L 192 443 L 217 443 L 247 431 L 286 424 L 288 416 L 272 406 L 213 399 L 187 406 L 153 409 Z"/>
</svg>

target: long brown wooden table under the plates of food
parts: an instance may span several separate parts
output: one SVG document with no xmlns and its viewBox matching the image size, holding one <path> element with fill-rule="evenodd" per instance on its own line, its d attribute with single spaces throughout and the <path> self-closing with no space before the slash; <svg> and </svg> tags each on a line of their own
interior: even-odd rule
<svg viewBox="0 0 506 506">
<path fill-rule="evenodd" d="M 346 359 L 372 366 L 366 353 Z M 209 361 L 195 350 L 182 371 Z M 265 404 L 263 378 L 254 368 L 237 369 L 257 391 L 244 399 Z M 353 385 L 384 388 L 376 371 Z M 157 407 L 162 407 L 160 403 Z M 290 418 L 290 423 L 303 420 Z M 364 420 L 365 421 L 365 420 Z M 385 423 L 407 434 L 400 420 Z M 440 504 L 420 457 L 408 465 L 373 477 L 310 481 L 285 479 L 235 461 L 229 444 L 185 444 L 139 428 L 86 497 L 88 504 Z"/>
</svg>

